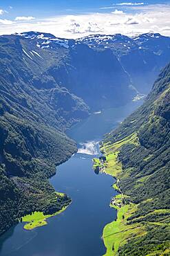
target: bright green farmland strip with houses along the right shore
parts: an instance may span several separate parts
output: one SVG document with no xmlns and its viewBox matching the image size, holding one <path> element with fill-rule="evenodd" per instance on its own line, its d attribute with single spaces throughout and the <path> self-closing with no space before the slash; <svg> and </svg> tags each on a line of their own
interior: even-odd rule
<svg viewBox="0 0 170 256">
<path fill-rule="evenodd" d="M 109 143 L 103 144 L 101 148 L 102 152 L 105 152 L 106 162 L 104 165 L 104 172 L 117 179 L 117 182 L 113 185 L 114 189 L 120 192 L 118 188 L 118 180 L 121 179 L 123 174 L 122 164 L 118 162 L 119 149 L 125 144 L 139 145 L 137 135 L 131 134 L 123 140 L 119 140 L 116 143 L 110 145 Z M 94 165 L 100 166 L 99 159 L 94 160 Z M 127 218 L 131 216 L 132 213 L 136 211 L 137 206 L 135 204 L 124 205 L 123 200 L 127 197 L 124 194 L 118 194 L 114 198 L 114 204 L 111 203 L 110 206 L 117 210 L 117 219 L 108 223 L 103 230 L 103 241 L 107 249 L 105 256 L 117 255 L 118 248 L 127 242 L 127 239 L 134 235 L 144 235 L 145 228 L 137 223 L 127 226 Z M 119 207 L 118 205 L 122 205 Z"/>
</svg>

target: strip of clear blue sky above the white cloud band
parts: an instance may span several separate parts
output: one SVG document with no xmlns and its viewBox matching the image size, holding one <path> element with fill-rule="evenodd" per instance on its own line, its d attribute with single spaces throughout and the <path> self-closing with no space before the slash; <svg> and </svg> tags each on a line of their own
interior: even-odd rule
<svg viewBox="0 0 170 256">
<path fill-rule="evenodd" d="M 9 10 L 9 6 L 12 6 L 12 10 L 6 17 L 14 18 L 15 16 L 34 15 L 36 17 L 47 17 L 54 15 L 67 15 L 78 14 L 85 12 L 102 12 L 100 8 L 113 6 L 120 3 L 145 3 L 145 4 L 162 4 L 170 3 L 169 0 L 136 0 L 136 1 L 110 1 L 110 0 L 2 0 L 0 1 L 0 8 Z M 116 7 L 116 6 L 115 6 Z M 121 6 L 119 6 L 120 8 Z M 109 10 L 105 10 L 109 12 Z"/>
</svg>

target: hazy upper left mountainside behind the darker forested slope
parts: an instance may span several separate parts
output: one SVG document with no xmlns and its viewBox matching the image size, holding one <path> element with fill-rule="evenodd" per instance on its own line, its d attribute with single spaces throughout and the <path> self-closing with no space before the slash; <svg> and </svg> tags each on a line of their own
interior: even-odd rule
<svg viewBox="0 0 170 256">
<path fill-rule="evenodd" d="M 1 97 L 10 98 L 8 104 L 14 109 L 21 106 L 16 115 L 21 115 L 23 109 L 28 115 L 38 113 L 41 122 L 46 121 L 58 129 L 65 129 L 88 115 L 83 100 L 59 86 L 47 72 L 48 62 L 55 62 L 50 53 L 39 55 L 32 50 L 32 44 L 28 41 L 25 44 L 17 36 L 0 39 Z M 57 65 L 57 56 L 56 60 Z"/>
</svg>

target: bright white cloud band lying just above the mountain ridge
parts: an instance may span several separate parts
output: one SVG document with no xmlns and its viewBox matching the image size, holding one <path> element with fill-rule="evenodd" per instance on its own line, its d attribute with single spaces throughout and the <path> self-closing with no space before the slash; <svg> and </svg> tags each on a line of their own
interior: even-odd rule
<svg viewBox="0 0 170 256">
<path fill-rule="evenodd" d="M 112 10 L 111 10 L 112 11 Z M 52 33 L 57 37 L 77 38 L 89 34 L 134 35 L 160 33 L 170 36 L 170 4 L 129 6 L 112 12 L 63 15 L 47 19 L 0 20 L 0 34 L 29 30 Z"/>
</svg>

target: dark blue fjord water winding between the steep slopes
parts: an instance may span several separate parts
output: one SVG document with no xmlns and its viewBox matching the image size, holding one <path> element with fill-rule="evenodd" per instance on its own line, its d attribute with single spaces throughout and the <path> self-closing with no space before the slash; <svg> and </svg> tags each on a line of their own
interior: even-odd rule
<svg viewBox="0 0 170 256">
<path fill-rule="evenodd" d="M 59 165 L 50 179 L 56 191 L 72 198 L 71 205 L 48 225 L 32 231 L 23 229 L 23 223 L 11 228 L 0 239 L 1 256 L 100 256 L 105 253 L 102 240 L 104 226 L 116 219 L 116 210 L 109 202 L 116 191 L 114 179 L 105 174 L 96 175 L 92 158 L 100 154 L 98 141 L 116 127 L 140 103 L 118 109 L 107 109 L 79 123 L 67 132 L 76 140 L 78 153 Z"/>
</svg>

